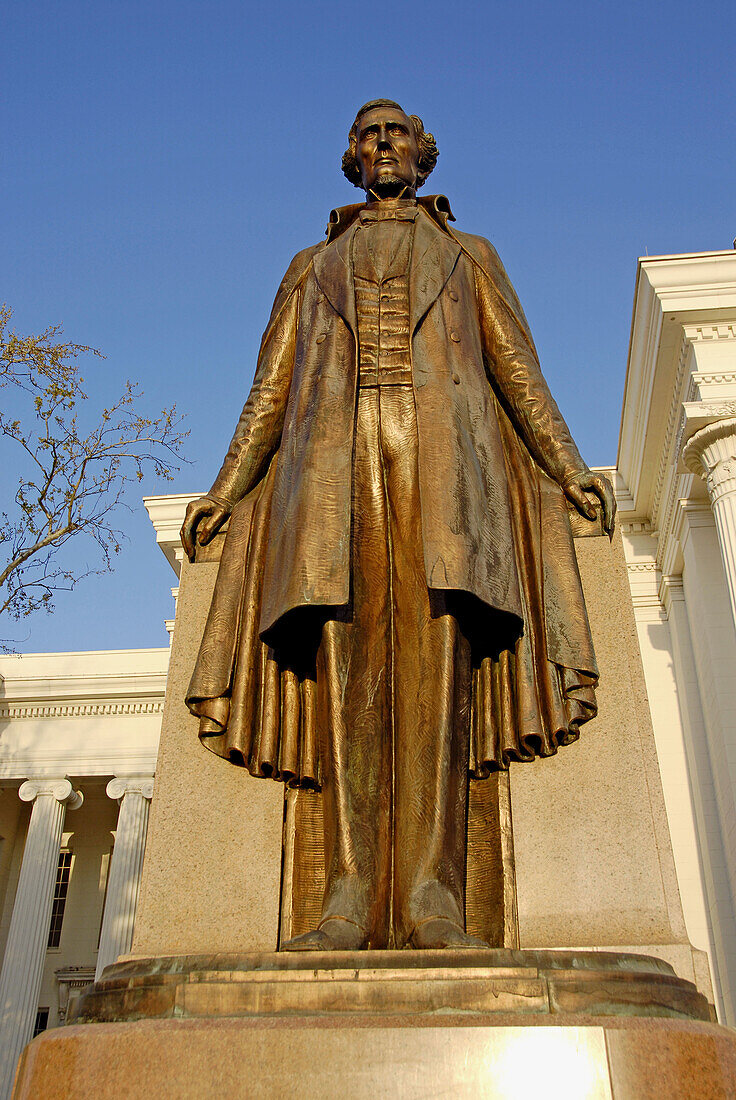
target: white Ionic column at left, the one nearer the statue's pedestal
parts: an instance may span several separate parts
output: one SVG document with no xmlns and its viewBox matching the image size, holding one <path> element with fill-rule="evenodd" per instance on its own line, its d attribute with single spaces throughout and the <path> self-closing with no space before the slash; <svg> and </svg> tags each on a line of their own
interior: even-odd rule
<svg viewBox="0 0 736 1100">
<path fill-rule="evenodd" d="M 114 963 L 118 956 L 128 954 L 133 942 L 133 921 L 141 884 L 153 779 L 150 776 L 111 779 L 107 791 L 111 799 L 118 800 L 120 811 L 110 861 L 96 980 L 106 966 Z"/>
</svg>

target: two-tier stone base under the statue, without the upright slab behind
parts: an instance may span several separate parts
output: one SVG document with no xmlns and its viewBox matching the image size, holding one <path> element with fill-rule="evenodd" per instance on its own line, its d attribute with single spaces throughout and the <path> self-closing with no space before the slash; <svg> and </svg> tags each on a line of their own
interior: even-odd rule
<svg viewBox="0 0 736 1100">
<path fill-rule="evenodd" d="M 129 959 L 30 1044 L 14 1098 L 726 1100 L 736 1036 L 710 1015 L 612 953 Z"/>
</svg>

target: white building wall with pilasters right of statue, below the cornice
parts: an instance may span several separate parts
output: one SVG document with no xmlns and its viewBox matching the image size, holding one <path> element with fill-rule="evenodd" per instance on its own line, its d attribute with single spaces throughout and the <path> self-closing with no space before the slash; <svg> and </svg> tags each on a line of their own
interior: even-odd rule
<svg viewBox="0 0 736 1100">
<path fill-rule="evenodd" d="M 719 1014 L 730 1021 L 736 630 L 713 513 L 700 501 L 681 508 L 681 574 L 663 581 L 658 540 L 645 525 L 625 524 L 625 542 L 685 924 L 708 954 Z"/>
</svg>

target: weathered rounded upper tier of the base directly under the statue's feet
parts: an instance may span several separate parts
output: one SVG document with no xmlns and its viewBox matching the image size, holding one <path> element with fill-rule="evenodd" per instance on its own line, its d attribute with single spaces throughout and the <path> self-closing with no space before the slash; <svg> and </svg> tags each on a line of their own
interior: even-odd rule
<svg viewBox="0 0 736 1100">
<path fill-rule="evenodd" d="M 74 1002 L 69 1023 L 217 1016 L 498 1013 L 711 1020 L 661 959 L 614 952 L 283 952 L 131 959 Z M 416 1021 L 415 1021 L 416 1023 Z"/>
</svg>

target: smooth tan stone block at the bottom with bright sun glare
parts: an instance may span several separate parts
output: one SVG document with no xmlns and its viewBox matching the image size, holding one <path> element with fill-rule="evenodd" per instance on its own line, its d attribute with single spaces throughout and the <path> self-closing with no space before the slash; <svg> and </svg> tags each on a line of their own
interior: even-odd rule
<svg viewBox="0 0 736 1100">
<path fill-rule="evenodd" d="M 558 1018 L 559 1019 L 559 1018 Z M 45 1032 L 14 1100 L 726 1100 L 736 1036 L 672 1019 L 497 1014 L 141 1020 Z"/>
</svg>

